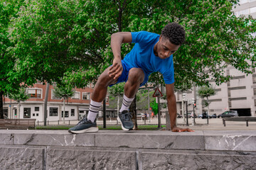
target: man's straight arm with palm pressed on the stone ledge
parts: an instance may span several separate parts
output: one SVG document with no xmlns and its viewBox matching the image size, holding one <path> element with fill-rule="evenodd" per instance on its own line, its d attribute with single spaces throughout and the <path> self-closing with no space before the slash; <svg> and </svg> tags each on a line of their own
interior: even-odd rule
<svg viewBox="0 0 256 170">
<path fill-rule="evenodd" d="M 167 105 L 168 105 L 168 111 L 170 115 L 171 120 L 171 131 L 173 132 L 194 132 L 194 130 L 191 129 L 183 129 L 178 128 L 176 125 L 176 96 L 174 94 L 174 83 L 173 84 L 166 84 L 166 97 L 167 97 Z"/>
</svg>

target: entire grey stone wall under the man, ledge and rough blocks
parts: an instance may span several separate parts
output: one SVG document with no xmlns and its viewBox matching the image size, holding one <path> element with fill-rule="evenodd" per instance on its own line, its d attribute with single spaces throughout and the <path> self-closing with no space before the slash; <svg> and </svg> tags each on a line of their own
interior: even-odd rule
<svg viewBox="0 0 256 170">
<path fill-rule="evenodd" d="M 3 169 L 256 169 L 256 131 L 0 130 Z"/>
</svg>

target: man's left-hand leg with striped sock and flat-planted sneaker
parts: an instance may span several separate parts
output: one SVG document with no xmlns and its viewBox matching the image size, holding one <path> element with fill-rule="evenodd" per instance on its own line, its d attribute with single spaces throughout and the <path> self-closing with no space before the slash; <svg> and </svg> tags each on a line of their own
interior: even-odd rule
<svg viewBox="0 0 256 170">
<path fill-rule="evenodd" d="M 84 132 L 97 132 L 97 124 L 95 118 L 97 112 L 100 110 L 102 101 L 107 95 L 107 86 L 114 84 L 117 80 L 114 80 L 113 77 L 110 77 L 109 68 L 100 75 L 97 83 L 95 85 L 94 91 L 92 93 L 92 100 L 90 101 L 89 113 L 87 118 L 83 119 L 75 125 L 75 127 L 70 128 L 68 132 L 73 133 L 84 133 Z"/>
</svg>

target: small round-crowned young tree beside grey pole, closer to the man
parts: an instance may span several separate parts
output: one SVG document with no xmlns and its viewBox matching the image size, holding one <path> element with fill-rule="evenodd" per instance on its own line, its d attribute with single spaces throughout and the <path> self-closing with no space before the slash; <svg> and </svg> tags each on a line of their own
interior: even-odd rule
<svg viewBox="0 0 256 170">
<path fill-rule="evenodd" d="M 53 94 L 57 98 L 63 98 L 63 123 L 65 123 L 65 100 L 72 97 L 75 91 L 69 84 L 58 84 L 54 87 Z"/>
</svg>

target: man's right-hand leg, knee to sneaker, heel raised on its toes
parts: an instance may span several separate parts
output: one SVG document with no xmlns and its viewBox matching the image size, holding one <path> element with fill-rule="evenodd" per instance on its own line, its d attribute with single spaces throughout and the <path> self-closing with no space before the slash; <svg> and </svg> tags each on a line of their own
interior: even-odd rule
<svg viewBox="0 0 256 170">
<path fill-rule="evenodd" d="M 119 111 L 119 121 L 122 123 L 122 130 L 131 130 L 133 123 L 131 114 L 128 112 L 129 106 L 134 100 L 134 96 L 137 93 L 140 84 L 144 81 L 144 72 L 139 68 L 132 68 L 129 70 L 128 80 L 124 85 L 124 98 L 122 101 L 122 107 Z"/>
</svg>

